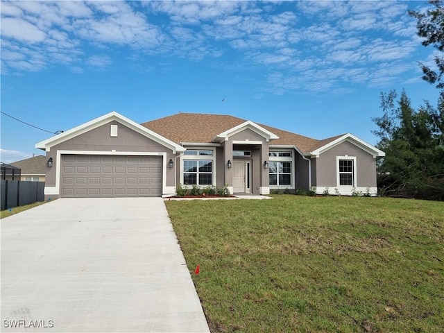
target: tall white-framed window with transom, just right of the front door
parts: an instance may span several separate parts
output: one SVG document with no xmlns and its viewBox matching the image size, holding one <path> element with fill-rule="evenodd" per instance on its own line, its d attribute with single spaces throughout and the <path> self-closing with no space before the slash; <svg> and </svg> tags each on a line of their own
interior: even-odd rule
<svg viewBox="0 0 444 333">
<path fill-rule="evenodd" d="M 270 151 L 268 153 L 269 185 L 275 189 L 294 189 L 293 151 Z"/>
</svg>

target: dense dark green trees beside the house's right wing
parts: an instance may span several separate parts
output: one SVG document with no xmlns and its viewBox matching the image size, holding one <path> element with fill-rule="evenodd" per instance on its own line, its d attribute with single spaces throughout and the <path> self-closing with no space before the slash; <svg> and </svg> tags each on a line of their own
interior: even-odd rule
<svg viewBox="0 0 444 333">
<path fill-rule="evenodd" d="M 419 110 L 403 91 L 395 108 L 396 92 L 381 93 L 382 117 L 377 147 L 386 157 L 378 166 L 378 184 L 387 196 L 444 200 L 443 133 L 435 126 L 436 110 L 426 103 Z"/>
</svg>

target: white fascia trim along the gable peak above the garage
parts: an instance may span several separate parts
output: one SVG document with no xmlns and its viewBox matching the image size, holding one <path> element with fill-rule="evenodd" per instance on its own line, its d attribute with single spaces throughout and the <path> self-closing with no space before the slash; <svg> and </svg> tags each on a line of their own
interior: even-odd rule
<svg viewBox="0 0 444 333">
<path fill-rule="evenodd" d="M 42 142 L 39 142 L 35 145 L 35 148 L 43 149 L 44 151 L 50 151 L 52 146 L 56 146 L 56 144 L 60 144 L 62 142 L 65 142 L 68 139 L 71 139 L 73 137 L 76 137 L 80 134 L 86 133 L 89 130 L 93 130 L 94 128 L 98 128 L 99 126 L 104 125 L 105 123 L 109 123 L 110 121 L 118 121 L 119 123 L 123 124 L 124 126 L 127 126 L 128 128 L 131 128 L 132 130 L 135 130 L 135 132 L 144 135 L 145 137 L 148 137 L 152 139 L 153 141 L 162 144 L 163 146 L 167 146 L 171 150 L 173 150 L 174 153 L 176 151 L 185 151 L 185 148 L 182 146 L 179 146 L 178 144 L 172 142 L 170 139 L 167 139 L 166 137 L 162 137 L 159 133 L 156 133 L 153 130 L 149 130 L 148 128 L 139 125 L 138 123 L 135 123 L 134 121 L 123 117 L 121 114 L 112 111 L 108 114 L 103 115 L 102 117 L 93 119 L 92 121 L 88 121 L 87 123 L 83 123 L 80 126 L 77 126 L 75 128 L 71 128 L 71 130 L 67 130 L 66 132 L 63 132 L 59 135 L 56 135 L 54 137 L 50 137 L 49 139 L 46 139 Z"/>
</svg>

